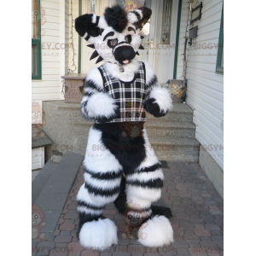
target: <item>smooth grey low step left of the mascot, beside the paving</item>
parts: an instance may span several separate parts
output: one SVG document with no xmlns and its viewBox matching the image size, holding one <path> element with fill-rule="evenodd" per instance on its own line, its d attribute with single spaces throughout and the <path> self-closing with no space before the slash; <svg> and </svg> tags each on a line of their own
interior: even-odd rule
<svg viewBox="0 0 256 256">
<path fill-rule="evenodd" d="M 73 152 L 67 152 L 60 164 L 48 160 L 32 182 L 32 205 L 37 205 L 45 214 L 45 226 L 40 230 L 45 236 L 55 231 L 83 160 L 84 155 Z"/>
</svg>

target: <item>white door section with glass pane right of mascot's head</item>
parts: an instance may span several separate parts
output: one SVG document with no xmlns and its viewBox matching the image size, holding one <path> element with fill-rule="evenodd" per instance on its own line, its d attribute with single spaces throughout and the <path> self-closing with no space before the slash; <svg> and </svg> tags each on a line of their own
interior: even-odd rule
<svg viewBox="0 0 256 256">
<path fill-rule="evenodd" d="M 164 84 L 173 79 L 178 0 L 145 0 L 144 6 L 152 9 L 152 16 L 145 27 L 148 35 L 140 58 L 154 67 L 160 84 Z"/>
</svg>

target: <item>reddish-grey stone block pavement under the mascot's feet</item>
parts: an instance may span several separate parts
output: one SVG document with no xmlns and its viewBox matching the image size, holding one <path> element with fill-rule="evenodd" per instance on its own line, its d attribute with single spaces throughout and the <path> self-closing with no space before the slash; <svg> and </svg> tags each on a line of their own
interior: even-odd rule
<svg viewBox="0 0 256 256">
<path fill-rule="evenodd" d="M 73 188 L 54 234 L 43 241 L 32 240 L 32 255 L 41 256 L 204 256 L 224 255 L 223 199 L 195 163 L 162 162 L 165 183 L 161 200 L 155 205 L 171 207 L 175 242 L 170 246 L 143 247 L 137 240 L 123 239 L 119 229 L 119 245 L 106 248 L 102 253 L 86 250 L 76 237 L 79 215 L 76 195 L 84 183 L 80 168 Z M 113 219 L 117 226 L 124 223 L 113 204 L 106 207 L 104 215 Z"/>
</svg>

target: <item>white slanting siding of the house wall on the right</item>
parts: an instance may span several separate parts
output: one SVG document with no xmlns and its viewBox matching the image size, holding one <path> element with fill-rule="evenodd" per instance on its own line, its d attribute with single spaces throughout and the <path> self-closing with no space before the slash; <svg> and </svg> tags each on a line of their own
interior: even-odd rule
<svg viewBox="0 0 256 256">
<path fill-rule="evenodd" d="M 188 46 L 187 52 L 187 102 L 195 108 L 196 138 L 207 148 L 207 152 L 212 155 L 218 166 L 224 169 L 224 131 L 222 130 L 224 76 L 215 73 L 218 47 L 214 47 L 214 44 L 218 44 L 223 1 L 203 0 L 202 3 L 201 20 L 194 24 L 198 26 L 198 37 L 193 43 L 197 43 L 198 48 Z M 188 1 L 183 0 L 177 79 L 182 79 L 183 75 L 183 49 L 188 9 Z M 204 43 L 212 44 L 213 48 L 200 49 L 199 44 Z"/>
</svg>

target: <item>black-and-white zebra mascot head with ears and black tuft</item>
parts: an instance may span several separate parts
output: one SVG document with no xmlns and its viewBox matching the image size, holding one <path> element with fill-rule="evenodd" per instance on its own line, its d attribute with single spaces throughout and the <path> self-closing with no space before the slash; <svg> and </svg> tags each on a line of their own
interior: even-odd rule
<svg viewBox="0 0 256 256">
<path fill-rule="evenodd" d="M 140 32 L 151 14 L 146 7 L 127 13 L 115 5 L 105 10 L 104 18 L 92 14 L 79 16 L 75 29 L 90 43 L 87 46 L 96 49 L 90 60 L 99 56 L 96 63 L 104 60 L 126 65 L 138 55 L 138 49 L 143 49 Z"/>
</svg>

